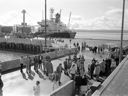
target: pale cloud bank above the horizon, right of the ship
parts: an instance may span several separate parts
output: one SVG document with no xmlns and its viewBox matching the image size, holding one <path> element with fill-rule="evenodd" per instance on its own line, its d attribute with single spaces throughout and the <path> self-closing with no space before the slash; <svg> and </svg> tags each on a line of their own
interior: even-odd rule
<svg viewBox="0 0 128 96">
<path fill-rule="evenodd" d="M 74 18 L 75 17 L 75 18 Z M 71 28 L 73 29 L 120 29 L 122 22 L 122 10 L 111 9 L 103 16 L 92 19 L 84 19 L 81 16 L 73 16 Z M 125 10 L 125 29 L 128 29 L 128 9 Z"/>
</svg>

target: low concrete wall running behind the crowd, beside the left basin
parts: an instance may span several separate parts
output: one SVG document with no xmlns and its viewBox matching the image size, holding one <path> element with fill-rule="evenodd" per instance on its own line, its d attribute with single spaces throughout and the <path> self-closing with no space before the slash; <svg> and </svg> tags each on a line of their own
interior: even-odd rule
<svg viewBox="0 0 128 96">
<path fill-rule="evenodd" d="M 56 51 L 53 51 L 53 52 L 44 53 L 44 54 L 41 54 L 41 55 L 44 58 L 46 56 L 50 56 L 50 58 L 53 60 L 53 59 L 64 57 L 66 55 L 74 54 L 76 52 L 77 52 L 76 48 L 60 49 L 60 50 L 56 50 Z M 2 74 L 6 74 L 6 73 L 9 73 L 9 72 L 16 71 L 20 68 L 20 59 L 0 62 L 0 64 L 2 66 Z"/>
</svg>

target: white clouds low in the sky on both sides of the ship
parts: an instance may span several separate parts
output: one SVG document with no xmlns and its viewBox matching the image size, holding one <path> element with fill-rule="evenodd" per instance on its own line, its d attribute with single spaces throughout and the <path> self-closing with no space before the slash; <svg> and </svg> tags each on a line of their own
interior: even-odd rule
<svg viewBox="0 0 128 96">
<path fill-rule="evenodd" d="M 73 29 L 121 29 L 122 10 L 111 9 L 100 17 L 85 19 L 79 15 L 71 16 L 70 27 Z M 68 18 L 62 18 L 64 23 L 68 23 Z M 21 10 L 12 10 L 0 16 L 0 25 L 21 24 Z M 38 20 L 26 14 L 26 22 L 29 25 L 37 25 Z M 125 10 L 125 29 L 128 29 L 128 9 Z"/>
</svg>

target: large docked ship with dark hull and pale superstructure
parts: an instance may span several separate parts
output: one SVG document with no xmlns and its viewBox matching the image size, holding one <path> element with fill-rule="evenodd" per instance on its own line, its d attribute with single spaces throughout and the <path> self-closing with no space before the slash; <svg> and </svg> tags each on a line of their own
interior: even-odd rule
<svg viewBox="0 0 128 96">
<path fill-rule="evenodd" d="M 50 38 L 74 38 L 76 32 L 69 29 L 66 24 L 61 21 L 61 15 L 57 13 L 55 18 L 53 18 L 54 9 L 50 9 L 51 17 L 50 20 L 46 20 L 46 33 L 45 33 L 45 20 L 38 22 L 40 27 L 38 32 L 34 35 L 39 37 L 50 37 Z"/>
</svg>

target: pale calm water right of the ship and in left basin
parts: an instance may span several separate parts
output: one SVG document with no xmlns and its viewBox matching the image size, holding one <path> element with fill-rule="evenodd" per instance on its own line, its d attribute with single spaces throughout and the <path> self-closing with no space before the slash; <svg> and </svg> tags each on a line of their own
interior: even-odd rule
<svg viewBox="0 0 128 96">
<path fill-rule="evenodd" d="M 128 44 L 128 32 L 124 32 L 123 35 L 124 42 L 125 44 Z M 93 31 L 93 32 L 77 32 L 75 39 L 72 39 L 70 43 L 70 39 L 63 39 L 65 42 L 64 44 L 68 45 L 73 45 L 73 43 L 82 43 L 86 42 L 87 45 L 90 46 L 98 46 L 102 44 L 120 44 L 120 32 L 98 32 L 98 31 Z M 62 44 L 62 45 L 64 45 Z M 15 52 L 7 52 L 7 51 L 0 51 L 0 61 L 8 61 L 12 59 L 17 59 L 20 58 L 20 56 L 24 56 L 28 54 L 24 53 L 15 53 Z"/>
</svg>

